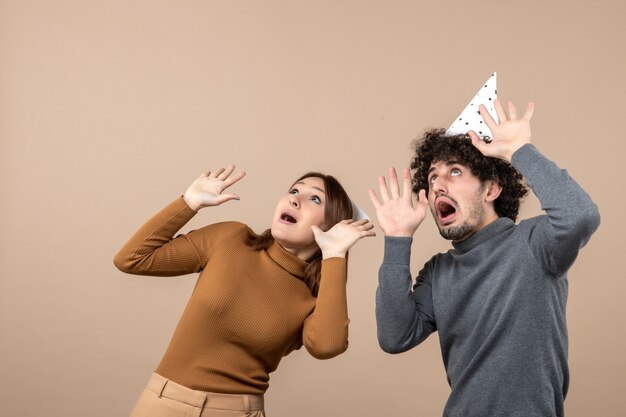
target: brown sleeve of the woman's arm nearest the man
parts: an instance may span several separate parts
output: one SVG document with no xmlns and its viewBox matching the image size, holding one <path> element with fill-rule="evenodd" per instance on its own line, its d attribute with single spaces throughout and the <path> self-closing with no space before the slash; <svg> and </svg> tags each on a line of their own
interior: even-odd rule
<svg viewBox="0 0 626 417">
<path fill-rule="evenodd" d="M 322 261 L 315 309 L 306 318 L 302 340 L 317 359 L 329 359 L 348 348 L 347 263 L 345 258 Z"/>
</svg>

